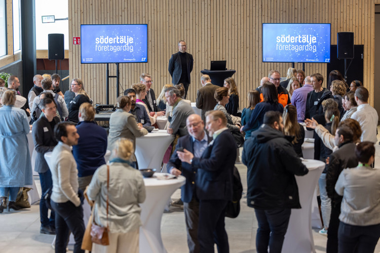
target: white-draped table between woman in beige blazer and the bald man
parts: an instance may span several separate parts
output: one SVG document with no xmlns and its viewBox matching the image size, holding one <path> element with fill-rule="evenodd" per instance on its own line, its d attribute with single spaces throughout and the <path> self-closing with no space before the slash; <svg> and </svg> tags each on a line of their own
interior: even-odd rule
<svg viewBox="0 0 380 253">
<path fill-rule="evenodd" d="M 161 163 L 166 150 L 174 140 L 166 130 L 153 131 L 142 137 L 136 137 L 135 155 L 139 168 L 156 168 L 161 170 Z"/>
</svg>

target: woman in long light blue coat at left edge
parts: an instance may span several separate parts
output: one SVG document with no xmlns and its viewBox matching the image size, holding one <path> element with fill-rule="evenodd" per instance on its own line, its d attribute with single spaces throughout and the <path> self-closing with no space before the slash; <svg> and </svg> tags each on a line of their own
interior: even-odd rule
<svg viewBox="0 0 380 253">
<path fill-rule="evenodd" d="M 14 107 L 16 93 L 4 92 L 0 108 L 0 213 L 7 207 L 17 210 L 15 204 L 20 187 L 32 184 L 32 167 L 26 135 L 29 123 L 24 110 Z"/>
</svg>

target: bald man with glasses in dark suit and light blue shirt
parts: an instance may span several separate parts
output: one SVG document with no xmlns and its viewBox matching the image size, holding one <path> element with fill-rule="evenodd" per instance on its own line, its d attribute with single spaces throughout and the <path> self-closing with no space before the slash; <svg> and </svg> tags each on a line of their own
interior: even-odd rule
<svg viewBox="0 0 380 253">
<path fill-rule="evenodd" d="M 188 135 L 178 139 L 175 152 L 169 162 L 169 173 L 175 176 L 182 175 L 186 178 L 186 184 L 181 187 L 181 199 L 185 214 L 187 245 L 189 252 L 199 252 L 198 223 L 199 223 L 199 200 L 195 192 L 196 171 L 191 164 L 181 162 L 177 152 L 180 148 L 192 152 L 195 157 L 201 157 L 207 148 L 209 138 L 204 130 L 205 124 L 198 114 L 192 114 L 186 119 Z"/>
</svg>

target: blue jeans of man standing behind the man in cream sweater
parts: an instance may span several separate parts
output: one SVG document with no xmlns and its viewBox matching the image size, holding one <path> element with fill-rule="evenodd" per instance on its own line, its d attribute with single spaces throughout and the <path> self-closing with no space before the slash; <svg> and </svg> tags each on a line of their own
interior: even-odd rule
<svg viewBox="0 0 380 253">
<path fill-rule="evenodd" d="M 53 186 L 53 180 L 52 180 L 52 174 L 50 170 L 47 170 L 45 173 L 39 173 L 40 176 L 40 182 L 41 182 L 41 189 L 42 189 L 42 194 L 45 194 L 45 192 Z M 54 227 L 54 211 L 51 210 L 50 213 L 50 218 L 48 217 L 49 213 L 49 208 L 46 206 L 45 203 L 45 198 L 44 196 L 41 197 L 40 200 L 40 221 L 41 221 L 41 226 L 47 227 L 47 226 L 52 226 Z"/>
</svg>

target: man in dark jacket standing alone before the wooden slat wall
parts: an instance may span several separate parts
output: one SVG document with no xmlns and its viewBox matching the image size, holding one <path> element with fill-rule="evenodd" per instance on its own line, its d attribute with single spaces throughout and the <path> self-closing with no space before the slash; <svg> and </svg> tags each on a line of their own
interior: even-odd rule
<svg viewBox="0 0 380 253">
<path fill-rule="evenodd" d="M 182 83 L 185 88 L 185 99 L 188 86 L 190 85 L 190 73 L 193 70 L 193 56 L 186 53 L 187 45 L 185 41 L 178 42 L 178 53 L 172 55 L 169 60 L 169 73 L 172 76 L 173 85 Z"/>
</svg>

